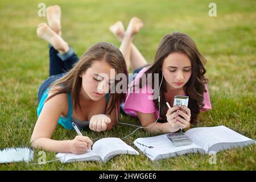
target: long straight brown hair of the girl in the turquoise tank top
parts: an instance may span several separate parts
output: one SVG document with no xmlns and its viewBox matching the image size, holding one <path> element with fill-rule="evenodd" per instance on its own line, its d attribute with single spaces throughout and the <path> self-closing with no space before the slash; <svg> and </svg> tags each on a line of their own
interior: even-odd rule
<svg viewBox="0 0 256 182">
<path fill-rule="evenodd" d="M 118 73 L 124 73 L 128 77 L 125 59 L 122 53 L 117 47 L 108 42 L 100 42 L 89 47 L 87 51 L 81 56 L 81 59 L 73 66 L 73 68 L 67 73 L 67 75 L 61 77 L 51 84 L 51 88 L 57 92 L 48 97 L 47 102 L 52 97 L 61 93 L 71 93 L 73 108 L 81 109 L 79 101 L 79 93 L 82 85 L 82 78 L 79 76 L 91 67 L 93 61 L 100 60 L 106 61 L 110 67 L 114 68 Z M 122 81 L 122 80 L 121 80 Z M 115 85 L 119 81 L 115 80 Z M 127 84 L 128 85 L 128 84 Z M 127 88 L 126 88 L 127 89 Z M 115 107 L 115 103 L 121 103 L 125 101 L 126 93 L 110 93 L 110 104 L 106 108 L 106 114 L 110 114 Z"/>
</svg>

